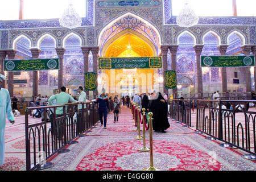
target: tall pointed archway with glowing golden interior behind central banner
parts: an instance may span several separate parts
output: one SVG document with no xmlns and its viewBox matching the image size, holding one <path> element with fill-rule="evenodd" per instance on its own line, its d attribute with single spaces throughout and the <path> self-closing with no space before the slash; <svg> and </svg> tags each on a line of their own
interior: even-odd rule
<svg viewBox="0 0 256 182">
<path fill-rule="evenodd" d="M 158 56 L 160 36 L 155 27 L 128 13 L 101 31 L 99 46 L 101 57 Z M 104 87 L 110 96 L 151 93 L 159 88 L 156 82 L 158 69 L 101 70 L 98 76 L 98 85 Z"/>
</svg>

